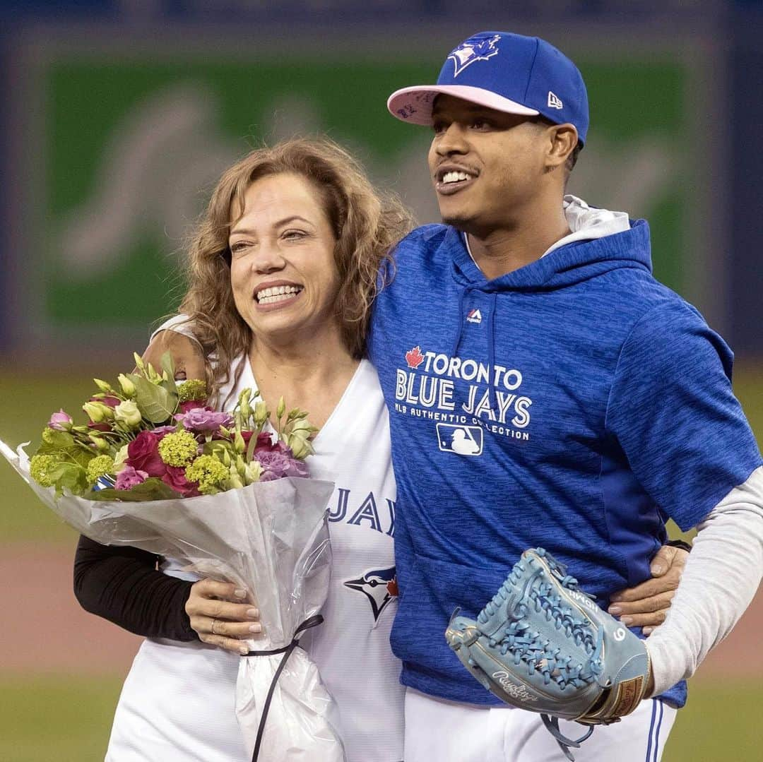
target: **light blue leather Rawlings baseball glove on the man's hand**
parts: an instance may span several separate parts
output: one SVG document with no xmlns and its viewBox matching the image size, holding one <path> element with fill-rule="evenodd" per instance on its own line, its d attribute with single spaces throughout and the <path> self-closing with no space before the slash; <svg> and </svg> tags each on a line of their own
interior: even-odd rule
<svg viewBox="0 0 763 762">
<path fill-rule="evenodd" d="M 600 609 L 542 548 L 524 551 L 477 621 L 453 616 L 448 644 L 462 664 L 507 704 L 540 712 L 572 760 L 593 725 L 633 712 L 649 682 L 642 641 Z M 559 718 L 591 725 L 576 740 Z"/>
</svg>

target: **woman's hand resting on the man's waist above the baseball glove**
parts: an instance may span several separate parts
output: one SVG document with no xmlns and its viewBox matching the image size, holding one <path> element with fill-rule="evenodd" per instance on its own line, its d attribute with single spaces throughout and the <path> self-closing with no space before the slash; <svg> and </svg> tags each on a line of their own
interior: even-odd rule
<svg viewBox="0 0 763 762">
<path fill-rule="evenodd" d="M 687 558 L 689 554 L 683 548 L 663 545 L 652 558 L 652 579 L 615 593 L 607 611 L 624 625 L 641 627 L 644 635 L 650 635 L 665 622 Z"/>
</svg>

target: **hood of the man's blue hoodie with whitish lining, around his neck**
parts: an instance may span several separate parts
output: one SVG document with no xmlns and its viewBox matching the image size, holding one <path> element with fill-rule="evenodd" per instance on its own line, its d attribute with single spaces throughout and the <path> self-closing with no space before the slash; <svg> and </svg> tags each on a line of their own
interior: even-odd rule
<svg viewBox="0 0 763 762">
<path fill-rule="evenodd" d="M 488 281 L 468 249 L 464 233 L 449 228 L 443 243 L 452 246 L 453 278 L 468 290 L 536 291 L 565 288 L 621 267 L 652 272 L 649 224 L 629 220 L 626 212 L 589 207 L 572 195 L 564 198 L 565 217 L 571 230 L 540 259 Z M 453 246 L 455 240 L 459 245 Z"/>
</svg>

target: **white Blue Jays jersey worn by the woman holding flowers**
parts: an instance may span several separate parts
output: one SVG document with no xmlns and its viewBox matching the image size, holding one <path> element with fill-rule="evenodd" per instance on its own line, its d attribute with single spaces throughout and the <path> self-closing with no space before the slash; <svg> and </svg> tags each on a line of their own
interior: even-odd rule
<svg viewBox="0 0 763 762">
<path fill-rule="evenodd" d="M 233 400 L 256 388 L 248 359 L 241 362 Z M 348 762 L 398 762 L 404 688 L 389 645 L 397 609 L 396 491 L 387 410 L 369 362 L 360 363 L 314 445 L 311 476 L 336 484 L 332 578 L 324 624 L 306 632 L 301 645 L 336 699 Z M 187 576 L 172 562 L 163 571 Z M 196 641 L 144 641 L 122 689 L 106 759 L 249 762 L 234 712 L 239 658 Z"/>
</svg>

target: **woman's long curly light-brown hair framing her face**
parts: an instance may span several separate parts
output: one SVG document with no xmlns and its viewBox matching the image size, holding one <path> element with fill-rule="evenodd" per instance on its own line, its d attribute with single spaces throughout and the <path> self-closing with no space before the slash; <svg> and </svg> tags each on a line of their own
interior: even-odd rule
<svg viewBox="0 0 763 762">
<path fill-rule="evenodd" d="M 394 268 L 391 249 L 414 227 L 413 217 L 401 201 L 391 193 L 376 191 L 359 162 L 327 138 L 298 138 L 265 146 L 227 169 L 188 247 L 188 291 L 179 310 L 192 321 L 204 349 L 213 395 L 230 380 L 231 363 L 250 349 L 253 339 L 236 309 L 230 286 L 228 235 L 237 221 L 231 220 L 231 210 L 234 202 L 237 209 L 244 209 L 244 195 L 253 182 L 282 172 L 303 176 L 323 198 L 336 236 L 334 260 L 340 275 L 336 315 L 347 349 L 355 358 L 365 355 L 365 333 L 380 286 L 381 265 L 388 262 Z M 211 365 L 210 355 L 214 355 Z"/>
</svg>

